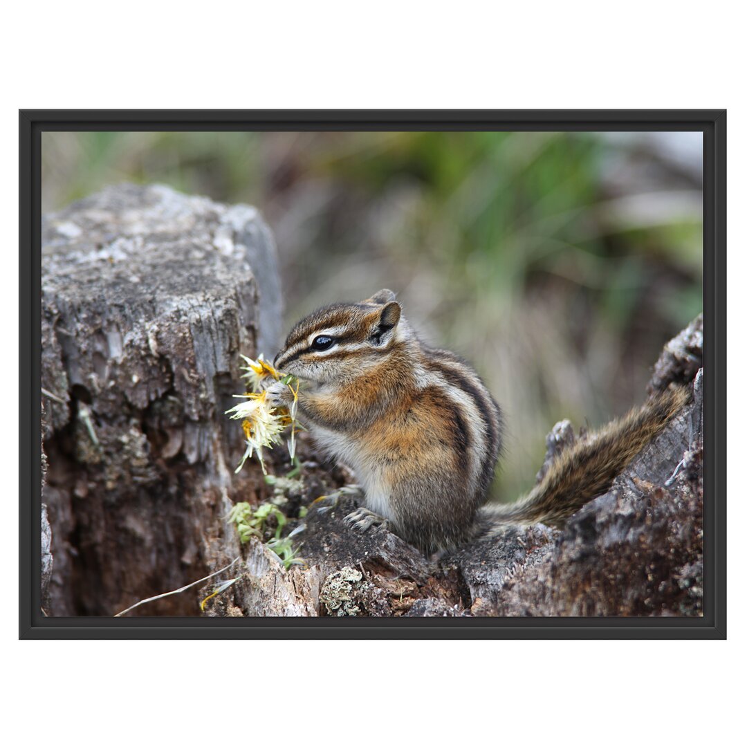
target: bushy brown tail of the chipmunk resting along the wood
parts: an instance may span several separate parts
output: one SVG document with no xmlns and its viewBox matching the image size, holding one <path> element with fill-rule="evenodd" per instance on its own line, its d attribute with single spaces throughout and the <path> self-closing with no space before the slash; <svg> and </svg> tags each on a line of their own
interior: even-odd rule
<svg viewBox="0 0 747 747">
<path fill-rule="evenodd" d="M 665 391 L 578 441 L 560 453 L 529 495 L 509 505 L 486 506 L 483 518 L 494 525 L 542 521 L 562 526 L 568 516 L 610 489 L 614 478 L 664 430 L 689 396 L 684 387 Z"/>
</svg>

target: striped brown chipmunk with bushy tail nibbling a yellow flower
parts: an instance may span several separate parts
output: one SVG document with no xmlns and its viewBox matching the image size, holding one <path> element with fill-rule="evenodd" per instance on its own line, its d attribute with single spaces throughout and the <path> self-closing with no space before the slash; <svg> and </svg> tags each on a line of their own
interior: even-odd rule
<svg viewBox="0 0 747 747">
<path fill-rule="evenodd" d="M 560 453 L 526 497 L 483 506 L 503 442 L 500 408 L 467 362 L 418 339 L 392 291 L 304 317 L 273 365 L 301 379 L 304 424 L 361 484 L 363 506 L 347 523 L 389 528 L 426 554 L 495 525 L 562 526 L 689 397 L 685 388 L 654 397 Z M 291 396 L 281 382 L 267 387 L 275 406 Z"/>
</svg>

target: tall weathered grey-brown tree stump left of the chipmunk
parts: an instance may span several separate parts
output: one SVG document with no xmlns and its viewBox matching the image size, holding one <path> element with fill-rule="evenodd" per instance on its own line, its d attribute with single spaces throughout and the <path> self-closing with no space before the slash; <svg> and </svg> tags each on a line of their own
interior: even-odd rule
<svg viewBox="0 0 747 747">
<path fill-rule="evenodd" d="M 232 474 L 223 412 L 280 310 L 254 208 L 124 185 L 43 220 L 49 613 L 111 615 L 239 554 L 224 517 L 261 473 Z M 196 611 L 175 595 L 137 613 Z"/>
</svg>

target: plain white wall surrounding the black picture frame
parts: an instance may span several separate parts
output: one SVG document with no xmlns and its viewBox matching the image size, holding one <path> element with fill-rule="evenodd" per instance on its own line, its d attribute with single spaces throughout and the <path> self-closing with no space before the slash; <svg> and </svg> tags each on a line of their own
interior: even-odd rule
<svg viewBox="0 0 747 747">
<path fill-rule="evenodd" d="M 1 660 L 10 743 L 738 739 L 731 734 L 743 732 L 745 504 L 735 480 L 737 431 L 746 418 L 737 395 L 745 282 L 739 211 L 731 220 L 728 290 L 728 643 L 17 642 L 13 601 L 17 108 L 728 107 L 729 186 L 739 206 L 746 164 L 738 8 L 719 0 L 6 7 L 0 568 L 7 573 Z M 489 734 L 476 727 L 485 722 L 493 725 Z"/>
</svg>

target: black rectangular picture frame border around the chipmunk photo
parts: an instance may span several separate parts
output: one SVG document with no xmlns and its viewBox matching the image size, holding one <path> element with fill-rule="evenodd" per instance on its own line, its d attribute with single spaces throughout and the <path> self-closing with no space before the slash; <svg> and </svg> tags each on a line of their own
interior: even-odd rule
<svg viewBox="0 0 747 747">
<path fill-rule="evenodd" d="M 704 598 L 698 618 L 84 618 L 40 605 L 41 136 L 45 131 L 702 131 Z M 726 112 L 19 111 L 19 637 L 22 639 L 726 637 Z"/>
</svg>

